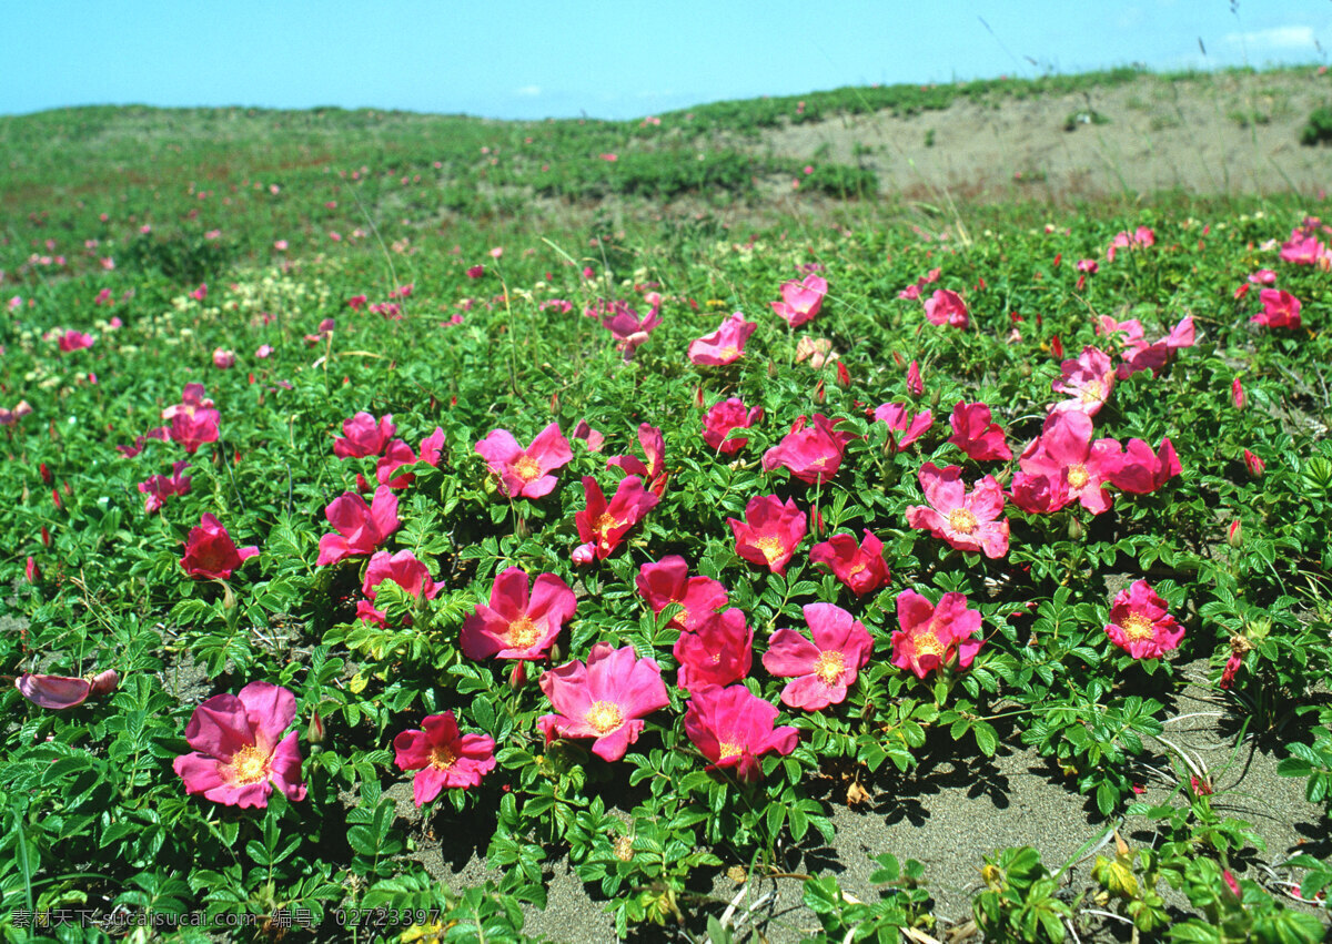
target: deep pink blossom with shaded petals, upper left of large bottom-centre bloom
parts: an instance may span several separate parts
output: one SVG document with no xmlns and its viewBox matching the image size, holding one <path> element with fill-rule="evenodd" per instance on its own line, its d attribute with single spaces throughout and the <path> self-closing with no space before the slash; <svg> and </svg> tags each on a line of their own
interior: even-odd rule
<svg viewBox="0 0 1332 944">
<path fill-rule="evenodd" d="M 462 623 L 469 659 L 541 659 L 574 615 L 577 600 L 555 574 L 541 574 L 527 590 L 527 573 L 509 567 L 490 585 L 490 604 L 477 603 Z"/>
</svg>

